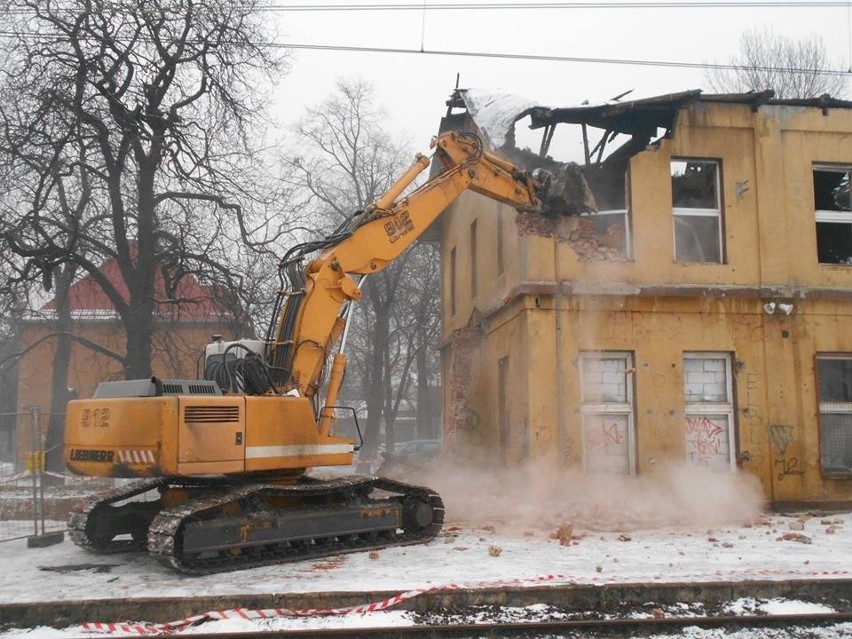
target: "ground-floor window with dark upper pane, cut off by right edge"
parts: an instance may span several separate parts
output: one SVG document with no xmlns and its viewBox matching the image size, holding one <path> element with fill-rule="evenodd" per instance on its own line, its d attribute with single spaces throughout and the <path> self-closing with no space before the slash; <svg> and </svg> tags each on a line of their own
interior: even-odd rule
<svg viewBox="0 0 852 639">
<path fill-rule="evenodd" d="M 821 355 L 816 364 L 822 470 L 852 473 L 852 355 Z"/>
</svg>

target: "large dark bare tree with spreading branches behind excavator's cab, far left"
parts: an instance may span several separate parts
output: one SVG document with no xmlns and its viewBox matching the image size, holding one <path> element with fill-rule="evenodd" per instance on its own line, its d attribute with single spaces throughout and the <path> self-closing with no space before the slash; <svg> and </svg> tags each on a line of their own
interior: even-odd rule
<svg viewBox="0 0 852 639">
<path fill-rule="evenodd" d="M 3 3 L 15 35 L 2 52 L 0 164 L 16 179 L 0 194 L 0 237 L 46 283 L 98 283 L 127 336 L 126 377 L 150 376 L 155 325 L 199 301 L 180 299 L 187 275 L 238 289 L 240 245 L 286 230 L 250 215 L 274 195 L 254 179 L 256 87 L 285 67 L 263 46 L 255 4 Z M 120 281 L 101 271 L 108 259 Z"/>
</svg>

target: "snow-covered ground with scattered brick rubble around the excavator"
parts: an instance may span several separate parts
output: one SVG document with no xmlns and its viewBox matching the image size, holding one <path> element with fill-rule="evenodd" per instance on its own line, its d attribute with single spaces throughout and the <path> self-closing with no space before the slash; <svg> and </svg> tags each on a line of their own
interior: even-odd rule
<svg viewBox="0 0 852 639">
<path fill-rule="evenodd" d="M 505 488 L 496 490 L 493 486 L 489 489 L 490 497 L 487 491 L 475 495 L 479 507 L 474 508 L 473 504 L 457 500 L 458 489 L 441 486 L 448 521 L 440 536 L 428 544 L 233 572 L 226 579 L 215 575 L 177 575 L 144 555 L 95 556 L 68 540 L 33 549 L 28 549 L 23 540 L 6 542 L 0 544 L 0 562 L 4 568 L 0 574 L 0 601 L 187 597 L 200 593 L 402 593 L 454 584 L 489 586 L 506 581 L 516 581 L 522 587 L 524 583 L 541 583 L 539 580 L 545 576 L 546 583 L 554 585 L 852 578 L 852 514 L 768 515 L 759 508 L 744 509 L 743 504 L 751 503 L 751 498 L 743 485 L 736 484 L 738 480 L 730 481 L 735 483 L 729 487 L 731 492 L 725 493 L 729 497 L 714 498 L 712 490 L 704 490 L 701 495 L 704 503 L 714 499 L 715 502 L 707 506 L 708 510 L 697 509 L 687 518 L 682 517 L 686 509 L 670 483 L 665 484 L 664 490 L 660 486 L 642 487 L 641 490 L 652 491 L 642 494 L 630 492 L 639 490 L 635 483 L 630 488 L 622 486 L 617 493 L 611 493 L 617 494 L 618 500 L 626 500 L 620 506 L 600 500 L 594 504 L 574 500 L 563 502 L 561 508 L 551 504 L 543 510 L 532 508 L 530 500 L 518 502 L 514 509 L 505 502 L 499 506 L 490 503 L 489 498 L 508 494 Z M 435 483 L 440 482 L 436 479 Z M 537 492 L 551 497 L 554 494 L 541 486 Z M 726 499 L 730 500 L 727 509 Z M 636 506 L 640 501 L 645 504 L 644 510 Z M 673 505 L 673 512 L 681 516 L 667 519 L 660 506 L 663 503 Z M 652 521 L 666 525 L 652 526 Z M 80 568 L 86 564 L 107 566 L 101 570 Z M 365 594 L 363 603 L 371 603 L 369 594 Z M 731 605 L 733 611 L 777 612 L 780 608 L 798 612 L 797 606 L 811 604 L 741 601 Z M 770 610 L 769 606 L 774 608 Z M 213 621 L 199 626 L 197 631 L 233 632 L 256 627 L 257 623 Z M 413 613 L 391 609 L 345 618 L 286 618 L 262 623 L 264 627 L 283 629 L 352 627 L 355 623 L 404 624 L 415 623 L 415 619 Z M 852 625 L 847 626 L 845 636 L 852 636 Z M 62 638 L 78 636 L 79 630 L 79 627 L 18 629 L 0 636 Z M 688 636 L 720 636 L 695 632 Z M 757 636 L 761 635 L 754 635 Z"/>
</svg>

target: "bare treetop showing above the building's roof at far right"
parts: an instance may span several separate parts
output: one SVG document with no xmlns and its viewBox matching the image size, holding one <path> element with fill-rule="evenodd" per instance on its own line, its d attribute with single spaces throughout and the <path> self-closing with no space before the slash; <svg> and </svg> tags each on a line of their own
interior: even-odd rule
<svg viewBox="0 0 852 639">
<path fill-rule="evenodd" d="M 839 65 L 829 59 L 818 35 L 796 40 L 771 28 L 745 31 L 739 53 L 729 64 L 705 71 L 711 90 L 747 93 L 771 89 L 777 98 L 843 97 L 846 91 L 847 74 L 836 70 Z"/>
</svg>

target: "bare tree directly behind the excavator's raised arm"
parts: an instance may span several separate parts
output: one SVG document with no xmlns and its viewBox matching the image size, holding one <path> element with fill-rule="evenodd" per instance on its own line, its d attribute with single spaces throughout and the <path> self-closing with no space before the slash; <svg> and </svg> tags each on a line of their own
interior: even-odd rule
<svg viewBox="0 0 852 639">
<path fill-rule="evenodd" d="M 304 153 L 290 160 L 294 178 L 306 189 L 305 206 L 316 211 L 317 226 L 334 227 L 380 195 L 410 164 L 413 154 L 391 141 L 381 126 L 381 110 L 371 87 L 358 80 L 340 81 L 336 92 L 311 109 L 298 127 Z M 404 312 L 421 293 L 423 255 L 412 247 L 388 268 L 367 278 L 364 298 L 355 306 L 350 334 L 350 364 L 344 393 L 366 404 L 365 446 L 375 454 L 381 423 L 393 445 L 394 419 L 406 396 L 418 348 L 427 348 L 415 318 Z M 436 295 L 432 283 L 425 294 Z M 437 304 L 430 300 L 429 308 Z M 419 332 L 418 332 L 419 331 Z M 421 341 L 418 341 L 418 337 Z M 428 362 L 427 360 L 424 360 Z"/>
</svg>

